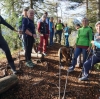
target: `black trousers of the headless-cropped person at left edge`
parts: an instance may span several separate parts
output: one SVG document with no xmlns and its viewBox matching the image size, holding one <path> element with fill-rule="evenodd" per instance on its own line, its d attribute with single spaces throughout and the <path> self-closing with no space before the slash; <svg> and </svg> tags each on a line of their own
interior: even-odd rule
<svg viewBox="0 0 100 99">
<path fill-rule="evenodd" d="M 1 34 L 0 34 L 0 48 L 5 52 L 7 61 L 11 66 L 12 70 L 16 70 L 8 44 Z"/>
</svg>

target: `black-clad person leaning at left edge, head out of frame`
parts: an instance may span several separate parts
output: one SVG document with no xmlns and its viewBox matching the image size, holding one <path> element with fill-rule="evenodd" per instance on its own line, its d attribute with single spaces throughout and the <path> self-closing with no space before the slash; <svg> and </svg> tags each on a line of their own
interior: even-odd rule
<svg viewBox="0 0 100 99">
<path fill-rule="evenodd" d="M 13 31 L 16 31 L 10 24 L 8 24 L 3 18 L 2 16 L 0 15 L 0 24 L 3 24 L 5 26 L 7 26 L 9 29 L 13 30 Z M 12 59 L 12 56 L 11 56 L 11 52 L 10 52 L 10 49 L 8 47 L 8 44 L 7 42 L 5 41 L 5 39 L 3 38 L 2 34 L 0 33 L 0 48 L 5 52 L 6 54 L 6 58 L 7 58 L 7 61 L 9 63 L 9 65 L 11 66 L 11 70 L 13 72 L 13 74 L 17 74 L 18 71 L 16 70 L 16 67 L 15 67 L 15 64 L 14 64 L 14 60 Z"/>
</svg>

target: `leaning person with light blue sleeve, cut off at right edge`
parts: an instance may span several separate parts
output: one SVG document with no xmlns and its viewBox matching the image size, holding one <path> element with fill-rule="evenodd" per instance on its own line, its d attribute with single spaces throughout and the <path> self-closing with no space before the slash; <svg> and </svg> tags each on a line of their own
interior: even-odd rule
<svg viewBox="0 0 100 99">
<path fill-rule="evenodd" d="M 100 21 L 98 21 L 95 25 L 97 33 L 94 36 L 94 41 L 91 41 L 92 47 L 94 49 L 94 54 L 90 59 L 88 59 L 84 65 L 82 70 L 82 77 L 79 78 L 79 81 L 88 80 L 89 70 L 94 66 L 96 63 L 100 62 Z"/>
</svg>

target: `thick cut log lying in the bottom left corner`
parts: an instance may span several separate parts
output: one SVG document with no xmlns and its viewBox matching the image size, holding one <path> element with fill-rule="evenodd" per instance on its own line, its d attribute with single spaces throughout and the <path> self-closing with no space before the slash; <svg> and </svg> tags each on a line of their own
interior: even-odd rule
<svg viewBox="0 0 100 99">
<path fill-rule="evenodd" d="M 18 83 L 16 75 L 6 76 L 0 79 L 0 94 Z"/>
</svg>

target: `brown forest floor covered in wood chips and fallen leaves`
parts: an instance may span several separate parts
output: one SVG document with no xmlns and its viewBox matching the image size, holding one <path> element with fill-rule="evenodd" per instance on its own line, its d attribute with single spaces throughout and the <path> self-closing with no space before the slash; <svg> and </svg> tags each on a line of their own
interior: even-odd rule
<svg viewBox="0 0 100 99">
<path fill-rule="evenodd" d="M 0 95 L 0 99 L 59 99 L 59 58 L 58 49 L 61 45 L 55 43 L 48 48 L 47 56 L 42 62 L 36 61 L 35 67 L 25 66 L 25 61 L 21 63 L 22 73 L 17 75 L 18 84 Z M 17 57 L 13 55 L 14 58 Z M 21 60 L 24 59 L 21 57 Z M 0 61 L 0 67 L 6 66 L 6 59 Z M 19 66 L 19 60 L 15 60 L 16 67 Z M 61 92 L 64 91 L 68 66 L 63 62 L 61 69 Z M 73 73 L 69 73 L 66 86 L 65 99 L 100 99 L 100 72 L 92 70 L 89 81 L 78 81 L 81 68 L 75 68 Z M 7 75 L 11 75 L 10 69 Z M 61 94 L 62 97 L 62 94 Z"/>
</svg>

